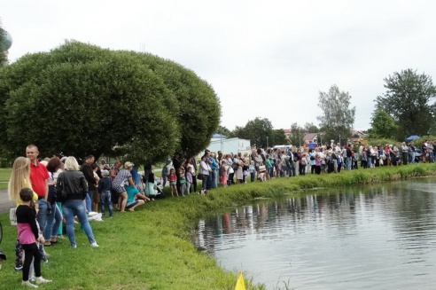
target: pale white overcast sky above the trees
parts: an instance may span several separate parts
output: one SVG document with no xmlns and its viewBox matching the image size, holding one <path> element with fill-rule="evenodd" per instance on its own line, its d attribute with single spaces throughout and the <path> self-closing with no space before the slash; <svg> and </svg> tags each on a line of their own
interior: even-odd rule
<svg viewBox="0 0 436 290">
<path fill-rule="evenodd" d="M 314 122 L 319 91 L 352 96 L 354 129 L 370 128 L 383 79 L 436 75 L 436 1 L 0 0 L 9 59 L 75 39 L 172 59 L 209 82 L 222 125 L 255 117 L 275 129 Z"/>
</svg>

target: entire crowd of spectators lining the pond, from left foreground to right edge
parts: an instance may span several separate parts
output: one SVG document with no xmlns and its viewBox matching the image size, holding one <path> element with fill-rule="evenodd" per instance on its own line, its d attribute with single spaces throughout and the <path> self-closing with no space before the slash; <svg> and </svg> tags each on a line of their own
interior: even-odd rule
<svg viewBox="0 0 436 290">
<path fill-rule="evenodd" d="M 425 141 L 419 148 L 419 161 L 434 162 L 434 145 Z M 145 202 L 165 198 L 163 187 L 168 183 L 173 197 L 191 192 L 205 195 L 218 186 L 265 182 L 269 179 L 304 176 L 307 173 L 339 173 L 342 169 L 361 167 L 371 169 L 380 166 L 399 166 L 417 160 L 417 148 L 410 142 L 401 145 L 318 145 L 315 148 L 253 148 L 251 153 L 211 153 L 206 150 L 199 163 L 195 158 L 168 160 L 161 172 L 161 186 L 153 172 L 142 176 L 132 162 L 112 167 L 105 160 L 96 163 L 94 156 L 87 156 L 82 165 L 73 156 L 54 156 L 38 160 L 38 148 L 28 145 L 27 157 L 18 157 L 12 166 L 8 186 L 10 200 L 15 208 L 18 239 L 16 242 L 15 270 L 22 270 L 22 284 L 36 284 L 51 280 L 41 275 L 40 263 L 48 262 L 45 248 L 63 239 L 63 223 L 72 248 L 77 247 L 74 238 L 74 216 L 82 225 L 90 247 L 98 247 L 89 223 L 91 212 L 100 206 L 102 216 L 113 217 L 113 211 L 135 211 Z M 24 257 L 23 257 L 24 254 Z M 32 266 L 33 264 L 33 266 Z"/>
</svg>

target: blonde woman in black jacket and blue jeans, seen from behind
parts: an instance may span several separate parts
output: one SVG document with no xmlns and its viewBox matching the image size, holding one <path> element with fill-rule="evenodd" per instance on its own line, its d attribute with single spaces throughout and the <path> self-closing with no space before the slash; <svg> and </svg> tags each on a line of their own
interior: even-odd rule
<svg viewBox="0 0 436 290">
<path fill-rule="evenodd" d="M 83 173 L 79 171 L 79 164 L 73 156 L 66 159 L 65 171 L 59 173 L 56 191 L 65 198 L 65 201 L 62 202 L 62 211 L 71 247 L 77 247 L 74 239 L 74 216 L 79 218 L 79 222 L 90 241 L 90 247 L 98 247 L 83 204 L 88 193 L 88 184 Z"/>
</svg>

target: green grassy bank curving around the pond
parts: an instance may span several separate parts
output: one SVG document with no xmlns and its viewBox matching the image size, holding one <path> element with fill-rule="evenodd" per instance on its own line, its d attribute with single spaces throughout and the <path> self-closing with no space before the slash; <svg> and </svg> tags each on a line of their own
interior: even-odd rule
<svg viewBox="0 0 436 290">
<path fill-rule="evenodd" d="M 67 240 L 47 247 L 50 263 L 43 264 L 43 276 L 54 282 L 43 289 L 234 289 L 236 273 L 219 265 L 191 244 L 191 229 L 201 216 L 245 204 L 258 197 L 303 195 L 315 187 L 372 184 L 435 176 L 436 164 L 417 164 L 399 168 L 359 169 L 340 174 L 278 178 L 266 183 L 232 185 L 210 192 L 206 197 L 191 194 L 185 198 L 167 198 L 146 204 L 134 213 L 115 213 L 113 219 L 92 222 L 100 245 L 91 248 L 76 225 L 78 247 Z M 4 224 L 2 249 L 9 260 L 0 270 L 1 288 L 19 286 L 21 273 L 13 270 L 16 228 Z M 249 283 L 248 283 L 249 284 Z M 262 289 L 262 286 L 246 286 Z"/>
</svg>

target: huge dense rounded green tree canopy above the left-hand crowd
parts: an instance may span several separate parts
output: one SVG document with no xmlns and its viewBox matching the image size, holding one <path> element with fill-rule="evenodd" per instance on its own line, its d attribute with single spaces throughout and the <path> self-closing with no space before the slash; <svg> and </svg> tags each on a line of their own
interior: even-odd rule
<svg viewBox="0 0 436 290">
<path fill-rule="evenodd" d="M 221 115 L 210 85 L 175 62 L 75 41 L 3 67 L 0 103 L 12 156 L 33 143 L 43 155 L 122 155 L 136 164 L 198 153 Z"/>
</svg>

